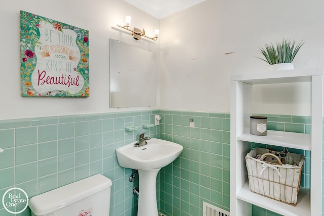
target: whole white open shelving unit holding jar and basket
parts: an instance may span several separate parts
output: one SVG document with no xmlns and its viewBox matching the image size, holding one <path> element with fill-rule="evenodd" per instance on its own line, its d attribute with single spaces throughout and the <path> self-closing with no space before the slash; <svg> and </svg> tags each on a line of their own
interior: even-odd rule
<svg viewBox="0 0 324 216">
<path fill-rule="evenodd" d="M 267 136 L 250 134 L 253 86 L 277 83 L 311 83 L 311 134 L 268 130 Z M 230 214 L 251 216 L 252 204 L 289 216 L 321 215 L 323 69 L 298 69 L 231 76 Z M 296 206 L 250 191 L 245 156 L 249 142 L 311 151 L 310 189 L 301 188 Z"/>
</svg>

